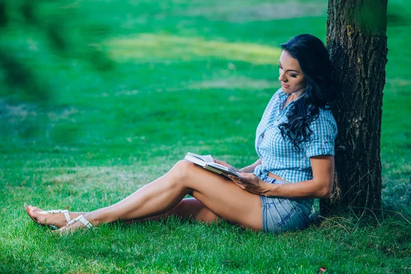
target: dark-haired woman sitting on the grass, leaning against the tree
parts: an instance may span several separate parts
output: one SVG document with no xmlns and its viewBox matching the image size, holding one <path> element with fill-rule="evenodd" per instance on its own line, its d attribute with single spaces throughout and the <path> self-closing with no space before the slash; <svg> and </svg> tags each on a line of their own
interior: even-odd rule
<svg viewBox="0 0 411 274">
<path fill-rule="evenodd" d="M 225 219 L 275 233 L 307 227 L 313 199 L 329 197 L 334 182 L 337 129 L 329 110 L 334 97 L 332 70 L 327 50 L 314 36 L 296 36 L 282 49 L 278 78 L 282 88 L 273 95 L 257 128 L 259 159 L 238 171 L 242 177 L 216 175 L 182 160 L 112 206 L 62 214 L 26 205 L 27 213 L 40 224 L 61 227 L 60 233 L 119 219 L 169 216 L 205 222 Z M 187 194 L 194 198 L 183 199 Z"/>
</svg>

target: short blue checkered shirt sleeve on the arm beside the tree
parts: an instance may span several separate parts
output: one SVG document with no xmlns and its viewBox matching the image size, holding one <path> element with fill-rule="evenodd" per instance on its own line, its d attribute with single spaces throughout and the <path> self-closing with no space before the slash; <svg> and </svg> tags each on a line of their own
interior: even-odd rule
<svg viewBox="0 0 411 274">
<path fill-rule="evenodd" d="M 308 158 L 316 155 L 333 155 L 337 124 L 331 110 L 320 109 L 319 118 L 310 123 L 311 140 L 307 143 Z"/>
</svg>

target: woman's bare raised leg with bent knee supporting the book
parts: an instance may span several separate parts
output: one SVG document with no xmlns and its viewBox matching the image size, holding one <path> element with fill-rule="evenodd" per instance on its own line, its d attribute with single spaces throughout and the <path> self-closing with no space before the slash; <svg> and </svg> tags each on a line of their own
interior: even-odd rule
<svg viewBox="0 0 411 274">
<path fill-rule="evenodd" d="M 145 219 L 171 210 L 188 193 L 229 222 L 262 229 L 260 196 L 242 190 L 230 179 L 210 173 L 186 160 L 177 162 L 171 171 L 122 201 L 89 212 L 84 217 L 93 225 L 119 219 Z M 77 222 L 70 228 L 82 226 L 81 222 Z"/>
</svg>

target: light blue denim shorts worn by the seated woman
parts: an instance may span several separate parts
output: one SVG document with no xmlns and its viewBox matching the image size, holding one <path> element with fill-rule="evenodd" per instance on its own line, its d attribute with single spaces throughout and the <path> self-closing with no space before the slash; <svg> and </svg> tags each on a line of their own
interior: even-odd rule
<svg viewBox="0 0 411 274">
<path fill-rule="evenodd" d="M 289 184 L 280 179 L 261 175 L 270 184 Z M 264 232 L 282 233 L 303 229 L 310 225 L 310 213 L 314 199 L 286 199 L 275 196 L 261 197 L 262 229 Z"/>
</svg>

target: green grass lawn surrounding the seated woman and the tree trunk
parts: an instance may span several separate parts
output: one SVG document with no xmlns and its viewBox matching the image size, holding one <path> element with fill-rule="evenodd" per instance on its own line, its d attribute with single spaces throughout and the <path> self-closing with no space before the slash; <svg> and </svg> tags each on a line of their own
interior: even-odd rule
<svg viewBox="0 0 411 274">
<path fill-rule="evenodd" d="M 407 1 L 389 3 L 399 23 L 388 26 L 384 214 L 378 219 L 348 212 L 282 235 L 171 220 L 104 225 L 62 238 L 35 225 L 23 203 L 108 206 L 168 171 L 188 150 L 238 167 L 254 162 L 255 129 L 279 87 L 279 44 L 301 33 L 325 38 L 327 7 L 278 2 L 277 10 L 301 10 L 284 18 L 256 0 L 83 0 L 64 9 L 46 2 L 39 12 L 47 18 L 65 14 L 62 29 L 73 34 L 74 57 L 53 54 L 36 29 L 0 40 L 35 68 L 50 92 L 48 101 L 0 92 L 0 273 L 411 271 Z M 75 47 L 79 29 L 88 32 L 83 42 L 112 60 L 111 70 L 83 60 L 86 51 Z"/>
</svg>

